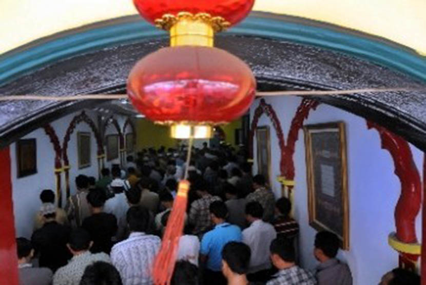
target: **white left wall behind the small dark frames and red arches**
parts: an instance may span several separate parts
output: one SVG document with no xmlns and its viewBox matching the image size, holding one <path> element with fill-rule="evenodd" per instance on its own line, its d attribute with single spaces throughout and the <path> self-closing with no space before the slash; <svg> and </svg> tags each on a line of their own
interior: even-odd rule
<svg viewBox="0 0 426 285">
<path fill-rule="evenodd" d="M 64 136 L 69 123 L 75 115 L 80 112 L 69 114 L 51 123 L 51 126 L 55 129 L 56 135 L 58 136 L 61 146 L 63 145 Z M 86 111 L 86 114 L 93 120 L 97 125 L 98 121 L 96 114 L 91 111 Z M 123 128 L 126 117 L 114 116 L 118 119 L 120 127 Z M 110 127 L 109 127 L 110 128 Z M 109 130 L 109 129 L 108 129 Z M 88 132 L 91 135 L 91 166 L 83 169 L 78 168 L 78 149 L 77 149 L 77 133 Z M 111 131 L 112 132 L 112 131 Z M 117 133 L 115 128 L 113 133 Z M 56 189 L 55 185 L 55 174 L 54 174 L 54 158 L 55 153 L 53 145 L 50 142 L 49 137 L 45 134 L 43 129 L 37 129 L 23 138 L 36 138 L 37 146 L 37 173 L 17 178 L 17 167 L 16 167 L 16 144 L 11 144 L 10 155 L 11 155 L 11 175 L 12 175 L 12 199 L 13 199 L 13 211 L 15 216 L 15 230 L 16 236 L 31 237 L 33 229 L 33 218 L 40 209 L 40 193 L 43 189 L 51 189 L 54 192 Z M 87 176 L 94 176 L 98 178 L 98 146 L 94 133 L 86 123 L 80 123 L 76 126 L 74 132 L 70 136 L 68 142 L 68 158 L 70 168 L 70 190 L 71 195 L 75 193 L 75 177 L 79 174 Z M 117 160 L 117 163 L 120 163 Z M 109 166 L 108 166 L 109 167 Z M 65 206 L 65 175 L 62 173 L 62 197 Z"/>
</svg>

